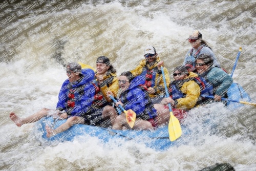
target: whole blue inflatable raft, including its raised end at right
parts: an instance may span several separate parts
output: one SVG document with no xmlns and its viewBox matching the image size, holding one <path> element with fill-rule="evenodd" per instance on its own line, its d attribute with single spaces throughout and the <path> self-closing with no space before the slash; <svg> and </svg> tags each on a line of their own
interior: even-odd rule
<svg viewBox="0 0 256 171">
<path fill-rule="evenodd" d="M 237 83 L 232 83 L 232 85 L 228 89 L 228 97 L 232 100 L 251 101 L 249 95 Z M 236 102 L 227 102 L 227 108 L 229 108 L 230 110 L 240 108 L 243 105 L 244 104 Z M 175 111 L 174 114 L 178 119 L 183 118 L 183 114 L 182 116 L 179 116 L 179 113 L 176 114 Z M 106 129 L 98 126 L 75 124 L 65 132 L 59 133 L 51 138 L 46 137 L 46 125 L 51 126 L 52 129 L 56 129 L 56 127 L 64 122 L 66 122 L 66 119 L 56 121 L 52 117 L 45 117 L 39 120 L 36 123 L 36 132 L 38 135 L 41 135 L 39 140 L 42 143 L 55 142 L 56 144 L 58 144 L 59 142 L 63 141 L 73 141 L 76 136 L 90 135 L 92 137 L 98 137 L 103 142 L 108 142 L 110 139 L 114 138 L 135 140 L 137 142 L 144 143 L 148 147 L 162 151 L 169 148 L 170 146 L 176 146 L 183 143 L 182 137 L 189 134 L 189 130 L 187 130 L 186 127 L 181 124 L 182 136 L 178 140 L 170 142 L 167 125 L 153 131 L 121 131 Z"/>
</svg>

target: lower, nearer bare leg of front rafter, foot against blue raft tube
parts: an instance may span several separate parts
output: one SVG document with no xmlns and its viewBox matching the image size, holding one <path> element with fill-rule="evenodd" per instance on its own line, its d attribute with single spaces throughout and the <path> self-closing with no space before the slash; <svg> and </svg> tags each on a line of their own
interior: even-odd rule
<svg viewBox="0 0 256 171">
<path fill-rule="evenodd" d="M 50 138 L 58 133 L 68 130 L 74 124 L 79 124 L 79 123 L 81 123 L 81 124 L 84 123 L 83 118 L 79 117 L 79 116 L 73 116 L 73 117 L 69 118 L 65 123 L 63 123 L 59 127 L 57 127 L 55 130 L 51 129 L 51 127 L 47 125 L 46 126 L 46 132 L 47 132 L 46 136 L 48 138 Z"/>
</svg>

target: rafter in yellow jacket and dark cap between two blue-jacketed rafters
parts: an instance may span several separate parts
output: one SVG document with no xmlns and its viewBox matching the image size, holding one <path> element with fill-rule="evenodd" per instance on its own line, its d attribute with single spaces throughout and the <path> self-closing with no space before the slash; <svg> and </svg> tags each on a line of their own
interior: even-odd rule
<svg viewBox="0 0 256 171">
<path fill-rule="evenodd" d="M 95 87 L 95 95 L 92 101 L 91 110 L 94 117 L 93 124 L 105 127 L 110 123 L 113 125 L 117 113 L 111 105 L 111 98 L 107 96 L 108 91 L 111 91 L 114 96 L 117 96 L 119 89 L 116 70 L 112 66 L 110 59 L 105 56 L 100 56 L 96 60 L 96 81 L 93 83 Z"/>
</svg>

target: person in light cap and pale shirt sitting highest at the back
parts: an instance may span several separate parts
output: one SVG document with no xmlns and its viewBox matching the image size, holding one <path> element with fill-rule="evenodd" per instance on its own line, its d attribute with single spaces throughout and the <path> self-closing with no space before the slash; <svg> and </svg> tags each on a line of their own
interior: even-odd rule
<svg viewBox="0 0 256 171">
<path fill-rule="evenodd" d="M 217 66 L 220 68 L 220 64 L 215 57 L 214 52 L 212 52 L 211 48 L 208 46 L 207 42 L 202 39 L 202 34 L 196 30 L 192 35 L 190 35 L 187 39 L 192 49 L 189 50 L 185 55 L 185 60 L 183 62 L 183 65 L 186 66 L 188 61 L 193 62 L 193 66 L 195 66 L 195 61 L 201 54 L 208 54 L 213 60 L 214 60 L 214 66 Z"/>
</svg>

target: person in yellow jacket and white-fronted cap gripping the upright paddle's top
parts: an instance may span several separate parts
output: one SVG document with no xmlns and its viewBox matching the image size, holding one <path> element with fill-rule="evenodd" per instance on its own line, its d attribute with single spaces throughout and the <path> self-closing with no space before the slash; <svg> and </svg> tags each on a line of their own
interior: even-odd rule
<svg viewBox="0 0 256 171">
<path fill-rule="evenodd" d="M 153 46 L 147 46 L 144 50 L 144 57 L 140 62 L 140 65 L 136 67 L 131 73 L 134 76 L 142 76 L 145 79 L 144 86 L 147 88 L 149 96 L 151 98 L 158 99 L 156 95 L 159 95 L 164 91 L 164 81 L 161 72 L 161 66 L 163 61 L 160 60 L 156 49 Z M 166 68 L 164 68 L 164 74 L 166 78 L 167 85 L 169 84 L 169 73 Z M 153 103 L 155 100 L 153 100 Z"/>
</svg>

